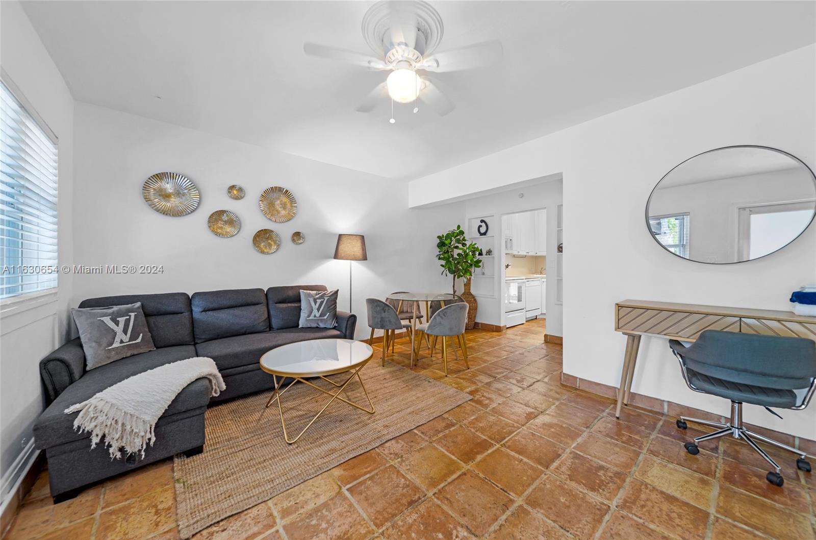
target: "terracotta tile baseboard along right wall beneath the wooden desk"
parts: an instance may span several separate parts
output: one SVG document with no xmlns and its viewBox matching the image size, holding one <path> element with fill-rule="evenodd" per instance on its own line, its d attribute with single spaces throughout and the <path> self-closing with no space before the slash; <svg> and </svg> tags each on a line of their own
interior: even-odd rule
<svg viewBox="0 0 816 540">
<path fill-rule="evenodd" d="M 579 390 L 589 392 L 590 394 L 602 395 L 611 399 L 618 398 L 617 386 L 605 385 L 601 382 L 588 381 L 587 379 L 575 377 L 569 373 L 561 372 L 561 384 L 578 388 Z M 635 394 L 634 392 L 632 392 L 632 394 L 629 396 L 629 404 L 638 408 L 645 408 L 646 410 L 654 411 L 655 413 L 667 414 L 668 416 L 672 417 L 698 417 L 703 418 L 704 420 L 713 420 L 714 422 L 726 422 L 728 420 L 728 418 L 722 417 L 715 413 L 709 413 L 708 411 L 689 407 L 688 405 L 677 404 L 673 401 L 668 401 L 667 399 L 657 399 L 649 395 Z M 624 407 L 623 410 L 626 410 L 626 408 Z M 796 449 L 800 449 L 803 452 L 811 455 L 811 457 L 816 456 L 816 440 L 809 440 L 805 439 L 804 437 L 783 433 L 782 431 L 771 430 L 767 427 L 753 426 L 751 424 L 746 424 L 746 426 L 751 426 L 753 431 L 756 431 L 761 435 L 768 436 L 771 439 L 778 440 L 793 446 Z"/>
</svg>

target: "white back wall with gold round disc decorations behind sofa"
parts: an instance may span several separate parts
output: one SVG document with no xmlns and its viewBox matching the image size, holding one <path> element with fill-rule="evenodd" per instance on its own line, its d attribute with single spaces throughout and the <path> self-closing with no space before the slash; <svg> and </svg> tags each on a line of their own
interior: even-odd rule
<svg viewBox="0 0 816 540">
<path fill-rule="evenodd" d="M 332 259 L 338 233 L 366 235 L 369 260 L 353 263 L 357 337 L 369 335 L 366 297 L 450 289 L 437 270 L 436 236 L 462 223 L 462 203 L 409 209 L 403 182 L 95 105 L 77 104 L 75 136 L 77 264 L 162 265 L 164 273 L 76 275 L 72 306 L 111 294 L 324 283 L 339 288 L 339 307 L 348 310 L 348 261 Z M 201 203 L 192 214 L 162 216 L 144 202 L 142 183 L 162 171 L 196 183 Z M 229 199 L 231 184 L 246 197 Z M 258 197 L 270 185 L 295 194 L 293 220 L 278 224 L 261 214 Z M 207 229 L 207 216 L 219 209 L 241 218 L 233 238 Z M 264 228 L 282 237 L 271 255 L 252 247 Z M 290 240 L 295 230 L 306 236 L 299 246 Z"/>
</svg>

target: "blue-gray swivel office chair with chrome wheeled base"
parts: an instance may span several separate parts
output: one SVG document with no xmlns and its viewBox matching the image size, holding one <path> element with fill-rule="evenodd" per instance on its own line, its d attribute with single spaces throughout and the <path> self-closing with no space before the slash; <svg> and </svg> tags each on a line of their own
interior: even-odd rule
<svg viewBox="0 0 816 540">
<path fill-rule="evenodd" d="M 774 467 L 765 476 L 771 484 L 784 483 L 779 474 L 782 469 L 754 439 L 795 453 L 799 456 L 796 466 L 810 471 L 806 453 L 743 426 L 743 403 L 761 405 L 770 413 L 774 413 L 770 407 L 796 410 L 807 407 L 816 388 L 816 342 L 804 337 L 706 330 L 689 347 L 676 340 L 669 341 L 669 346 L 680 360 L 685 384 L 691 390 L 731 400 L 731 419 L 726 424 L 680 417 L 677 427 L 683 430 L 688 427 L 686 422 L 718 428 L 685 443 L 688 453 L 698 454 L 697 444 L 703 440 L 731 435 L 745 440 Z"/>
</svg>

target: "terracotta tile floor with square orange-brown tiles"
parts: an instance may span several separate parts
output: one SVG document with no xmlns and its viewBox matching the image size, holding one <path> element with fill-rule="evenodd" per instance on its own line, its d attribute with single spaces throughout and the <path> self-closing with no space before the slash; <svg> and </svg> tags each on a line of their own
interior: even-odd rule
<svg viewBox="0 0 816 540">
<path fill-rule="evenodd" d="M 616 420 L 609 400 L 559 384 L 561 346 L 542 341 L 543 321 L 468 332 L 471 369 L 452 360 L 450 377 L 424 349 L 415 369 L 470 402 L 194 538 L 816 538 L 816 474 L 797 471 L 792 456 L 770 451 L 783 488 L 734 441 L 690 456 L 681 441 L 700 431 L 632 408 Z M 392 361 L 409 355 L 397 341 Z M 4 538 L 177 538 L 172 466 L 56 506 L 43 472 Z"/>
</svg>

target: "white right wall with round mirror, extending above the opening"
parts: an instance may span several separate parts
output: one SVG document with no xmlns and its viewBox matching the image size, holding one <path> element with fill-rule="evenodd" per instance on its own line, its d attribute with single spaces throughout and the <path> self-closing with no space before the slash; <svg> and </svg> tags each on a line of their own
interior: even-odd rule
<svg viewBox="0 0 816 540">
<path fill-rule="evenodd" d="M 660 178 L 686 158 L 727 145 L 765 145 L 816 166 L 816 46 L 596 118 L 412 181 L 412 207 L 553 173 L 564 177 L 564 371 L 619 383 L 624 340 L 614 302 L 626 298 L 787 310 L 816 281 L 816 227 L 778 253 L 738 265 L 683 261 L 650 238 L 644 208 Z M 655 276 L 659 276 L 656 279 Z M 724 399 L 681 381 L 663 339 L 645 337 L 633 390 L 728 413 Z M 747 422 L 816 439 L 816 405 L 784 420 L 747 408 Z"/>
</svg>

